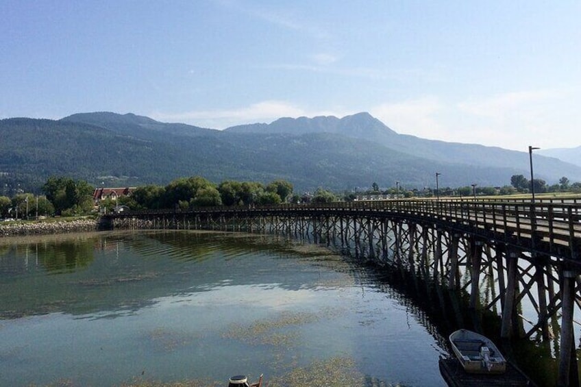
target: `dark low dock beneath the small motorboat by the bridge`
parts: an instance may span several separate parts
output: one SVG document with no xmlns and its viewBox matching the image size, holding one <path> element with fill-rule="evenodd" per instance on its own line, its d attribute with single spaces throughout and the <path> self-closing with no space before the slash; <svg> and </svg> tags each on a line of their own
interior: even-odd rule
<svg viewBox="0 0 581 387">
<path fill-rule="evenodd" d="M 526 375 L 510 363 L 506 364 L 506 372 L 495 375 L 467 373 L 456 358 L 441 358 L 439 366 L 440 373 L 449 387 L 535 386 Z"/>
</svg>

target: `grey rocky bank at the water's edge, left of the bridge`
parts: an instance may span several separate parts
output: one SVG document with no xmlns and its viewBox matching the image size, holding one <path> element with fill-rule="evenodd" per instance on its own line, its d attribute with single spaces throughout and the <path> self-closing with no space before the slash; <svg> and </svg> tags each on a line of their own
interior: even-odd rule
<svg viewBox="0 0 581 387">
<path fill-rule="evenodd" d="M 75 219 L 74 221 L 51 222 L 4 222 L 0 223 L 0 238 L 3 236 L 27 236 L 90 232 L 103 229 L 101 219 Z"/>
</svg>

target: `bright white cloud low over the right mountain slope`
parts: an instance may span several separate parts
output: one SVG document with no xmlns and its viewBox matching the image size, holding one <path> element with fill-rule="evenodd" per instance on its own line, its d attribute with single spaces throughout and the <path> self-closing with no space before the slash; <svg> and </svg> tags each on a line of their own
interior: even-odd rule
<svg viewBox="0 0 581 387">
<path fill-rule="evenodd" d="M 506 149 L 566 147 L 563 138 L 554 138 L 552 128 L 577 138 L 571 125 L 574 90 L 532 90 L 506 92 L 464 101 L 422 97 L 383 103 L 370 112 L 400 134 L 421 138 L 465 142 Z M 563 117 L 563 112 L 568 112 Z M 578 140 L 573 140 L 578 146 Z"/>
</svg>

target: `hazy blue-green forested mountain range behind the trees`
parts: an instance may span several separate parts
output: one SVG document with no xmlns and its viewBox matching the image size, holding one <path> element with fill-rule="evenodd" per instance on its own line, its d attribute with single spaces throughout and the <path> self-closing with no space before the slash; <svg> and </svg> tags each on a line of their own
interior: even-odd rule
<svg viewBox="0 0 581 387">
<path fill-rule="evenodd" d="M 217 183 L 286 179 L 296 191 L 367 189 L 373 182 L 388 187 L 396 181 L 406 188 L 433 187 L 436 172 L 441 186 L 450 187 L 504 186 L 512 175 L 530 175 L 526 151 L 397 134 L 367 113 L 280 118 L 223 131 L 135 114 L 80 113 L 56 121 L 3 119 L 0 138 L 4 189 L 21 184 L 32 190 L 50 175 L 96 186 L 164 185 L 192 175 Z M 536 152 L 536 178 L 549 184 L 563 176 L 581 181 L 580 165 Z M 581 147 L 552 155 L 567 152 L 567 160 L 579 160 Z"/>
</svg>

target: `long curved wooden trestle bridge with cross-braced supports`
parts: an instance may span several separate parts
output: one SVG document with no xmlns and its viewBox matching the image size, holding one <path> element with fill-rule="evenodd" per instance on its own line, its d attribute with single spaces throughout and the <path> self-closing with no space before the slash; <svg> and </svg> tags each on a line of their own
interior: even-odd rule
<svg viewBox="0 0 581 387">
<path fill-rule="evenodd" d="M 114 228 L 214 229 L 309 235 L 401 267 L 502 319 L 502 338 L 556 334 L 558 383 L 578 384 L 581 201 L 388 200 L 200 208 L 111 215 Z M 492 292 L 481 291 L 485 283 Z M 528 303 L 527 319 L 519 305 Z M 560 332 L 552 332 L 558 321 Z M 558 324 L 556 324 L 558 325 Z M 526 327 L 526 328 L 525 328 Z"/>
</svg>

